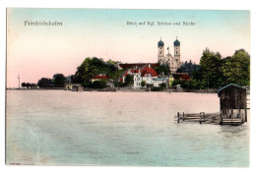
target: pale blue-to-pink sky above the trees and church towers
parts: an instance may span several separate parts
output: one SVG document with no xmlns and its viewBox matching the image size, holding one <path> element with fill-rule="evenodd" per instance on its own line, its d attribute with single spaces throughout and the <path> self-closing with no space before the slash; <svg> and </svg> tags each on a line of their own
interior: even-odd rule
<svg viewBox="0 0 256 172">
<path fill-rule="evenodd" d="M 29 22 L 59 22 L 61 27 L 25 26 Z M 137 26 L 127 25 L 137 23 Z M 146 22 L 145 26 L 139 23 Z M 154 22 L 154 26 L 147 25 Z M 158 26 L 158 22 L 171 26 Z M 173 26 L 179 23 L 180 26 Z M 195 26 L 183 26 L 183 22 Z M 181 61 L 199 63 L 206 47 L 231 56 L 243 48 L 250 54 L 249 11 L 8 9 L 7 87 L 37 83 L 54 74 L 76 73 L 86 57 L 123 63 L 156 63 L 158 41 L 180 41 Z"/>
</svg>

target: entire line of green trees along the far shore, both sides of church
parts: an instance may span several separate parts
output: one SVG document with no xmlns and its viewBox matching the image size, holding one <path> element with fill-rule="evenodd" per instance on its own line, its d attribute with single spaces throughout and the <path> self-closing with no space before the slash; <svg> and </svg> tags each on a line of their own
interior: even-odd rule
<svg viewBox="0 0 256 172">
<path fill-rule="evenodd" d="M 118 69 L 116 61 L 93 57 L 87 57 L 77 68 L 75 75 L 69 81 L 63 74 L 55 74 L 53 79 L 42 78 L 37 86 L 53 87 L 65 86 L 65 84 L 81 84 L 85 87 L 102 88 L 106 87 L 106 81 L 96 81 L 92 83 L 93 77 L 99 74 L 106 75 L 114 86 L 132 86 L 133 76 L 128 75 L 124 83 L 119 83 L 118 78 L 126 71 Z M 154 67 L 159 75 L 168 76 L 170 74 L 168 65 L 158 65 Z M 220 88 L 228 84 L 239 86 L 250 85 L 250 55 L 244 50 L 239 49 L 232 56 L 222 57 L 221 53 L 210 51 L 206 48 L 203 51 L 199 64 L 185 62 L 177 70 L 177 73 L 187 73 L 191 80 L 175 80 L 171 86 L 181 85 L 184 88 Z M 24 84 L 23 86 L 30 86 Z M 144 83 L 142 83 L 144 86 Z"/>
</svg>

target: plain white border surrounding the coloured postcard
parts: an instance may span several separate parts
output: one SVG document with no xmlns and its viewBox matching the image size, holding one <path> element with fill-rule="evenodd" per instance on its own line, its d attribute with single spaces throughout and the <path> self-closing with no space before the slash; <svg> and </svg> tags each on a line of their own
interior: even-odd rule
<svg viewBox="0 0 256 172">
<path fill-rule="evenodd" d="M 177 167 L 48 167 L 48 166 L 6 166 L 5 165 L 5 57 L 6 57 L 6 8 L 30 7 L 30 8 L 113 8 L 113 9 L 203 9 L 203 10 L 251 10 L 251 76 L 255 74 L 255 21 L 256 9 L 253 0 L 156 0 L 150 2 L 139 0 L 1 0 L 0 6 L 0 168 L 1 171 L 255 171 L 255 127 L 253 120 L 254 111 L 251 109 L 251 159 L 249 168 L 177 168 Z M 251 78 L 251 97 L 255 93 L 255 80 Z M 254 101 L 251 100 L 253 107 Z"/>
</svg>

